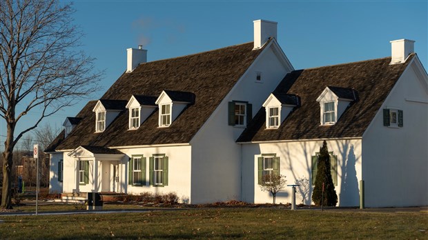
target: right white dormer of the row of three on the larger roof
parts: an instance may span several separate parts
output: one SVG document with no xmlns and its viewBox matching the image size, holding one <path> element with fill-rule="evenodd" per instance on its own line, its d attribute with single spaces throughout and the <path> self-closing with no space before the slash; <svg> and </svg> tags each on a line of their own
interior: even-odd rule
<svg viewBox="0 0 428 240">
<path fill-rule="evenodd" d="M 186 106 L 195 103 L 195 94 L 164 90 L 155 103 L 159 106 L 159 127 L 168 127 Z"/>
</svg>

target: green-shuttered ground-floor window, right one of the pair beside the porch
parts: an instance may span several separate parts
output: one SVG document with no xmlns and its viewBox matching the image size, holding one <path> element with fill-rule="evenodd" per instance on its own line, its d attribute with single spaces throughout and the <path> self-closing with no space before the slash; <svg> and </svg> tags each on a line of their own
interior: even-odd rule
<svg viewBox="0 0 428 240">
<path fill-rule="evenodd" d="M 168 157 L 165 154 L 150 157 L 150 186 L 168 186 Z"/>
</svg>

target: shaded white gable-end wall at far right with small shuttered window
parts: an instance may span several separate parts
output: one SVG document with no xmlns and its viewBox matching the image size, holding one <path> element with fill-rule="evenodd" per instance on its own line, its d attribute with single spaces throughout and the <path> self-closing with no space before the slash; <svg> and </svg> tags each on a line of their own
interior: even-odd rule
<svg viewBox="0 0 428 240">
<path fill-rule="evenodd" d="M 415 68 L 415 62 L 409 64 L 364 132 L 362 179 L 367 207 L 428 206 L 427 83 L 424 86 Z M 402 128 L 383 126 L 384 108 L 403 111 Z"/>
</svg>

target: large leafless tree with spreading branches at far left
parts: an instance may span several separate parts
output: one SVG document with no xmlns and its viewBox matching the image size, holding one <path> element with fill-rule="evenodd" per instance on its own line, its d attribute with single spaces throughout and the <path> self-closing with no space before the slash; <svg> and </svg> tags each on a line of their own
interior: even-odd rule
<svg viewBox="0 0 428 240">
<path fill-rule="evenodd" d="M 7 129 L 1 208 L 12 208 L 12 154 L 23 134 L 97 88 L 101 74 L 79 51 L 82 34 L 73 12 L 55 0 L 0 1 L 0 116 Z M 29 112 L 38 114 L 32 126 L 15 132 Z"/>
</svg>

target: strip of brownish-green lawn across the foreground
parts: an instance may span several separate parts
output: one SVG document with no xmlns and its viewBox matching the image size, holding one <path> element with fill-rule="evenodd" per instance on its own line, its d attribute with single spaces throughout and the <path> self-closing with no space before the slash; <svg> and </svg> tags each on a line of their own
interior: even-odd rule
<svg viewBox="0 0 428 240">
<path fill-rule="evenodd" d="M 209 208 L 0 219 L 2 239 L 428 239 L 427 212 Z"/>
</svg>

